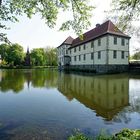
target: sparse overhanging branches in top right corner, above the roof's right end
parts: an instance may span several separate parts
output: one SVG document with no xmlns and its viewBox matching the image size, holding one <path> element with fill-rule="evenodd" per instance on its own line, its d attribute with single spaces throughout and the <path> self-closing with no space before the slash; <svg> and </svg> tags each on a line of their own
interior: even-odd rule
<svg viewBox="0 0 140 140">
<path fill-rule="evenodd" d="M 132 23 L 140 20 L 140 0 L 112 0 L 112 6 L 111 15 L 117 19 L 119 28 L 131 33 L 136 31 L 138 36 Z"/>
</svg>

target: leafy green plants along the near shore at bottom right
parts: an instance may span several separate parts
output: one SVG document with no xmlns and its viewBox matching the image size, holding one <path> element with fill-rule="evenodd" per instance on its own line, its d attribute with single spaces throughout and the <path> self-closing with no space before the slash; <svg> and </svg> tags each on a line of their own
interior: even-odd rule
<svg viewBox="0 0 140 140">
<path fill-rule="evenodd" d="M 131 130 L 125 128 L 115 135 L 100 133 L 94 138 L 87 137 L 83 133 L 77 131 L 74 135 L 71 135 L 68 140 L 140 140 L 140 129 Z"/>
</svg>

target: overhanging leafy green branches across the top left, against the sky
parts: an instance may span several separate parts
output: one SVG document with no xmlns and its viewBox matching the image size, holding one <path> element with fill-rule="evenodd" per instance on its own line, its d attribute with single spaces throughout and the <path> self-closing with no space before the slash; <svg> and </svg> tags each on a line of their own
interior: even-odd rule
<svg viewBox="0 0 140 140">
<path fill-rule="evenodd" d="M 0 29 L 7 29 L 3 21 L 18 21 L 17 16 L 25 13 L 29 18 L 39 13 L 46 24 L 53 28 L 60 11 L 72 11 L 73 19 L 62 24 L 61 30 L 72 28 L 77 34 L 90 25 L 89 19 L 93 7 L 88 0 L 1 0 Z M 4 33 L 0 33 L 1 41 L 8 41 Z"/>
</svg>

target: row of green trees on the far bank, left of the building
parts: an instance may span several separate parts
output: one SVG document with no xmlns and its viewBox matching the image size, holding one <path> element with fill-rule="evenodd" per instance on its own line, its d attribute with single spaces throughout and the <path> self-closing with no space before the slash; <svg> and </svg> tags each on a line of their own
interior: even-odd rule
<svg viewBox="0 0 140 140">
<path fill-rule="evenodd" d="M 53 47 L 34 48 L 27 54 L 27 52 L 24 52 L 23 47 L 19 44 L 1 44 L 1 65 L 24 66 L 26 65 L 26 57 L 28 57 L 30 66 L 56 66 L 56 51 L 56 48 Z"/>
</svg>

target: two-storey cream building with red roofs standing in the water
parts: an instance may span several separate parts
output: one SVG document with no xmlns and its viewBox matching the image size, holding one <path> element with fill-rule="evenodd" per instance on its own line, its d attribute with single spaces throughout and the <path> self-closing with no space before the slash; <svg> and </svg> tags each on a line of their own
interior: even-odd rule
<svg viewBox="0 0 140 140">
<path fill-rule="evenodd" d="M 83 40 L 68 37 L 57 47 L 59 68 L 99 73 L 127 71 L 129 39 L 110 20 L 97 24 L 83 34 Z"/>
</svg>

